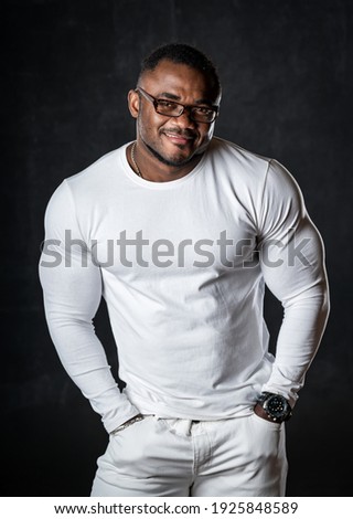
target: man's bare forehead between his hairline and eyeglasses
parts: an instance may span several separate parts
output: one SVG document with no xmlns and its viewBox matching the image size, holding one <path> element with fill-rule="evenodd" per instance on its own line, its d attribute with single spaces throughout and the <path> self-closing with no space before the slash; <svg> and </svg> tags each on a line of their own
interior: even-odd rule
<svg viewBox="0 0 353 519">
<path fill-rule="evenodd" d="M 207 75 L 183 63 L 162 60 L 153 71 L 146 71 L 139 85 L 153 96 L 164 93 L 181 98 L 217 100 L 217 92 Z"/>
</svg>

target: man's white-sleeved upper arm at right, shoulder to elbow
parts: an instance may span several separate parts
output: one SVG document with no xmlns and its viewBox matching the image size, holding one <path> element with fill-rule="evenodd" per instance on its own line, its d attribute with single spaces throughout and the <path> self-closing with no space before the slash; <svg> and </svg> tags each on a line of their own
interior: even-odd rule
<svg viewBox="0 0 353 519">
<path fill-rule="evenodd" d="M 277 161 L 267 171 L 259 215 L 259 257 L 270 292 L 286 303 L 307 289 L 322 288 L 321 235 L 308 215 L 298 183 Z"/>
</svg>

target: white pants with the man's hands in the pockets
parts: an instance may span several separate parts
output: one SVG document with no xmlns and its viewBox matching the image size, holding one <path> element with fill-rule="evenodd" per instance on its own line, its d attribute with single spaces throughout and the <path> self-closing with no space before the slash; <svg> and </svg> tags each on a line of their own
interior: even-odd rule
<svg viewBox="0 0 353 519">
<path fill-rule="evenodd" d="M 110 435 L 92 496 L 285 496 L 285 424 L 146 416 Z"/>
</svg>

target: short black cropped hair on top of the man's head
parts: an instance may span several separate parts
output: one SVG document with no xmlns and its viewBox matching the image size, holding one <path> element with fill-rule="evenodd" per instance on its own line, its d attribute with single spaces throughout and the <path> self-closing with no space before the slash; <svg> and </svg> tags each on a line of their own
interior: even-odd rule
<svg viewBox="0 0 353 519">
<path fill-rule="evenodd" d="M 185 43 L 167 43 L 154 49 L 142 60 L 139 78 L 145 72 L 154 71 L 162 60 L 188 65 L 202 72 L 210 77 L 213 86 L 221 94 L 221 81 L 214 63 L 203 52 Z"/>
</svg>

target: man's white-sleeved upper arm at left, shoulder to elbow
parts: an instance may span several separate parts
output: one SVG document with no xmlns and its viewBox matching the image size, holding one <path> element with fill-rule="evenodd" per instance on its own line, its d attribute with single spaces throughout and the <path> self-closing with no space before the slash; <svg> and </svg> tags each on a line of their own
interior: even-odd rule
<svg viewBox="0 0 353 519">
<path fill-rule="evenodd" d="M 100 269 L 82 235 L 66 182 L 55 190 L 45 211 L 39 267 L 47 317 L 94 317 L 101 297 Z"/>
</svg>

